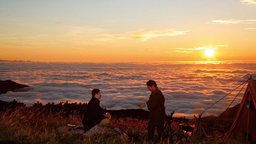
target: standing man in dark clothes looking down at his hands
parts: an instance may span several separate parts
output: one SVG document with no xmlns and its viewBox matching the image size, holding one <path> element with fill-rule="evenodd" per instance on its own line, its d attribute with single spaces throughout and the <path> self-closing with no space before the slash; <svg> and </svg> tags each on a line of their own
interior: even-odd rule
<svg viewBox="0 0 256 144">
<path fill-rule="evenodd" d="M 146 103 L 140 103 L 138 106 L 140 108 L 148 106 L 148 141 L 153 141 L 156 127 L 159 139 L 162 138 L 162 135 L 164 133 L 164 124 L 166 116 L 165 97 L 161 90 L 158 89 L 156 81 L 149 80 L 147 82 L 147 86 L 148 89 L 152 92 L 149 97 L 149 101 L 147 101 Z"/>
</svg>

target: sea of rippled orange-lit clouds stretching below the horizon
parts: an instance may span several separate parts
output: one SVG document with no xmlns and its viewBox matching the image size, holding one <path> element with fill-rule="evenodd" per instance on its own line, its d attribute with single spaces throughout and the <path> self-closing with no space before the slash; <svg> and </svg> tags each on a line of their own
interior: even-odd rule
<svg viewBox="0 0 256 144">
<path fill-rule="evenodd" d="M 174 117 L 203 112 L 248 78 L 256 79 L 255 62 L 165 62 L 165 63 L 43 63 L 0 62 L 0 80 L 10 79 L 30 87 L 0 94 L 0 100 L 32 106 L 62 101 L 88 102 L 91 90 L 101 90 L 100 106 L 107 110 L 137 109 L 149 99 L 149 79 L 157 82 L 166 102 L 166 113 Z M 225 111 L 241 85 L 203 113 Z M 246 85 L 247 86 L 247 85 Z M 231 106 L 239 104 L 245 88 Z M 147 110 L 147 107 L 143 108 Z"/>
</svg>

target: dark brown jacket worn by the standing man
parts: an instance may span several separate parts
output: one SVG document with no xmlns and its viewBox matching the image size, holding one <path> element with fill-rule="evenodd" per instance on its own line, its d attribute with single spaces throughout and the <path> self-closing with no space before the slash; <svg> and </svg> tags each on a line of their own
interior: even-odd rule
<svg viewBox="0 0 256 144">
<path fill-rule="evenodd" d="M 149 119 L 157 125 L 164 125 L 166 116 L 165 97 L 158 87 L 151 93 L 147 106 Z"/>
</svg>

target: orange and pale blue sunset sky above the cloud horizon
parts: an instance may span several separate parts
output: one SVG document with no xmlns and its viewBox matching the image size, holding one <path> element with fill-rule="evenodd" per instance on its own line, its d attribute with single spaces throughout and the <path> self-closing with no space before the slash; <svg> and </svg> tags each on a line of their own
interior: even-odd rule
<svg viewBox="0 0 256 144">
<path fill-rule="evenodd" d="M 256 0 L 0 0 L 0 60 L 255 61 L 255 56 Z"/>
</svg>

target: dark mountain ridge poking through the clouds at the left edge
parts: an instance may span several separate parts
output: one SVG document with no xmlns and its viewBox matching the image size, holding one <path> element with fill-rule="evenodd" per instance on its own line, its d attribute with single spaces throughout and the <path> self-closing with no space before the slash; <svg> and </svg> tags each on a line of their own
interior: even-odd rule
<svg viewBox="0 0 256 144">
<path fill-rule="evenodd" d="M 7 91 L 19 89 L 23 87 L 29 87 L 28 85 L 19 84 L 11 80 L 0 80 L 0 94 L 5 94 Z"/>
</svg>

